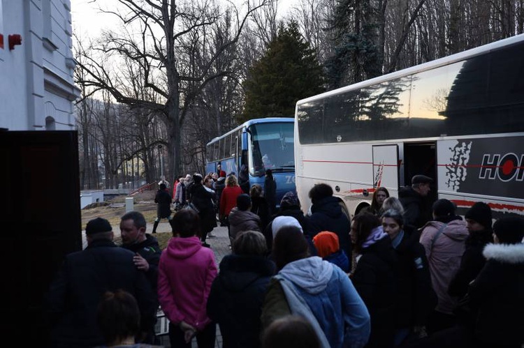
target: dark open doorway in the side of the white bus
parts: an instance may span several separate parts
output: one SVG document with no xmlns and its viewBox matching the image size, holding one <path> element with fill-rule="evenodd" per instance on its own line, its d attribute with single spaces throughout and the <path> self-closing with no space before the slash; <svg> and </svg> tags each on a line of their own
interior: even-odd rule
<svg viewBox="0 0 524 348">
<path fill-rule="evenodd" d="M 429 202 L 437 200 L 437 145 L 435 142 L 404 143 L 404 185 L 412 183 L 412 177 L 423 174 L 433 179 Z"/>
</svg>

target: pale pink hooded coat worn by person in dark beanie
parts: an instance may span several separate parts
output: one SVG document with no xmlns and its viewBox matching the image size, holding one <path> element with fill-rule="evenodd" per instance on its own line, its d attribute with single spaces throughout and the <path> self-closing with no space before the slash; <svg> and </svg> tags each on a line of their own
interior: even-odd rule
<svg viewBox="0 0 524 348">
<path fill-rule="evenodd" d="M 452 220 L 439 234 L 443 226 L 444 222 L 439 221 L 425 224 L 420 243 L 424 247 L 425 256 L 428 257 L 431 283 L 438 298 L 435 310 L 452 315 L 458 298 L 449 296 L 448 287 L 460 267 L 468 232 L 467 224 L 463 220 Z"/>
</svg>

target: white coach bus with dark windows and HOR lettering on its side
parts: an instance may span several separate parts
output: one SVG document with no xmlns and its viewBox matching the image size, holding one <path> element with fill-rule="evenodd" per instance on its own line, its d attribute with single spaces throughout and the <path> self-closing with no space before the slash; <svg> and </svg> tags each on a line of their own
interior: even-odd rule
<svg viewBox="0 0 524 348">
<path fill-rule="evenodd" d="M 295 121 L 304 211 L 315 183 L 353 216 L 425 174 L 460 215 L 524 213 L 524 34 L 299 100 Z"/>
</svg>

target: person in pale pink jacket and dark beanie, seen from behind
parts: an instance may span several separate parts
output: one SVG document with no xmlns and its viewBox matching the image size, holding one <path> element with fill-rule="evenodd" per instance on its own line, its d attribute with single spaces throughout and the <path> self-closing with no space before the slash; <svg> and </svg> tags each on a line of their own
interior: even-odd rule
<svg viewBox="0 0 524 348">
<path fill-rule="evenodd" d="M 428 257 L 431 283 L 438 302 L 428 318 L 428 333 L 450 328 L 455 324 L 453 314 L 458 298 L 448 294 L 451 279 L 460 267 L 465 250 L 467 223 L 455 215 L 456 205 L 448 199 L 438 199 L 433 204 L 433 220 L 422 227 L 420 243 Z"/>
</svg>

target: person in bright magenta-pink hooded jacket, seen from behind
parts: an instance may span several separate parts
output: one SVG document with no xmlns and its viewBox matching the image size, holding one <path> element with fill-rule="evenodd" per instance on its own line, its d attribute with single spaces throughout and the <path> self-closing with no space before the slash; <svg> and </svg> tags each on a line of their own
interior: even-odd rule
<svg viewBox="0 0 524 348">
<path fill-rule="evenodd" d="M 178 211 L 173 220 L 173 239 L 163 250 L 159 263 L 158 295 L 168 317 L 169 341 L 173 348 L 213 348 L 216 324 L 208 318 L 206 305 L 217 264 L 210 248 L 202 246 L 198 214 Z"/>
</svg>

